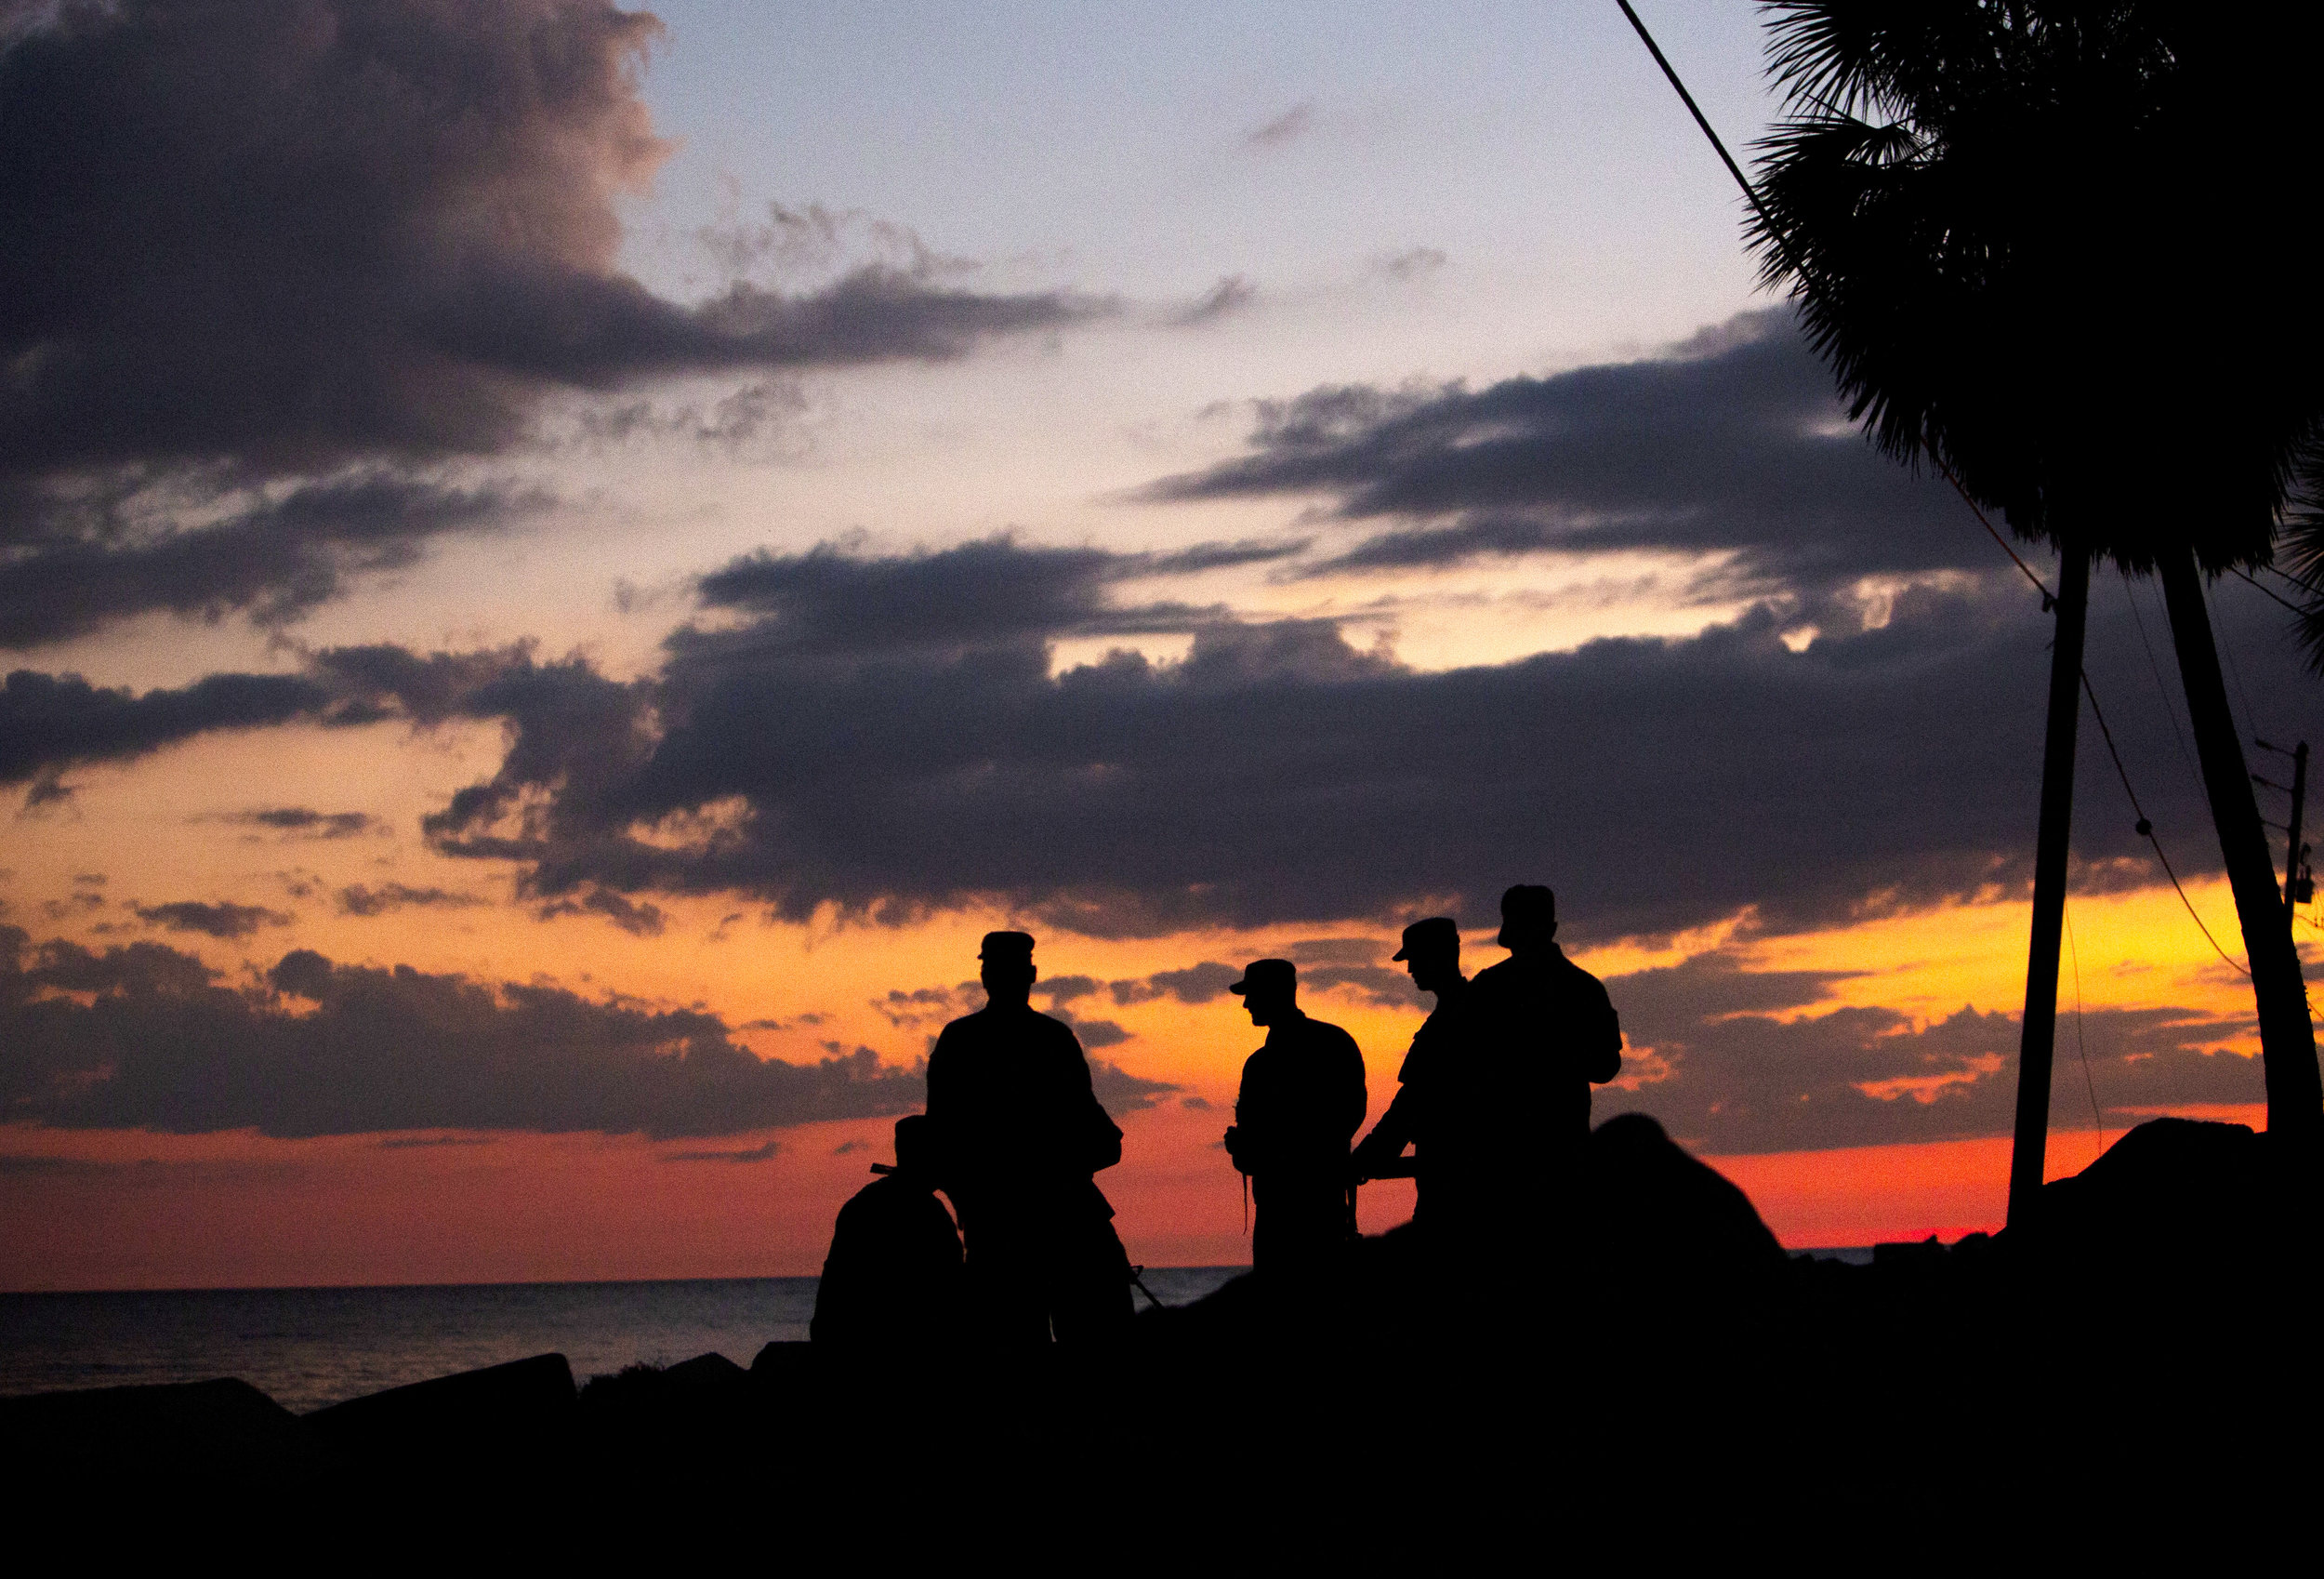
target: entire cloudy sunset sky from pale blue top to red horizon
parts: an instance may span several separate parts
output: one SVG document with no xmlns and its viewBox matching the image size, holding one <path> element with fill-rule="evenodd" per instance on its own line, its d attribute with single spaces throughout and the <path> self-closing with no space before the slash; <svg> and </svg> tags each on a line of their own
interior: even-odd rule
<svg viewBox="0 0 2324 1579">
<path fill-rule="evenodd" d="M 1248 1260 L 1234 970 L 1376 1116 L 1513 881 L 1599 1119 L 1999 1226 L 2050 621 L 1613 0 L 0 0 L 0 1288 L 813 1272 L 997 926 Z M 2152 584 L 2089 674 L 2236 958 L 2085 714 L 2052 1174 L 2264 1100 Z"/>
</svg>

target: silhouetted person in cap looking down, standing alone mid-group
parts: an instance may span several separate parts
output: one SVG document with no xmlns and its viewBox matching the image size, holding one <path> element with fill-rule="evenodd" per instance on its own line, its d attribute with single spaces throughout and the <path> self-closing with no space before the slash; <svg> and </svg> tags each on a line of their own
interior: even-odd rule
<svg viewBox="0 0 2324 1579">
<path fill-rule="evenodd" d="M 1253 960 L 1241 993 L 1267 1044 L 1243 1060 L 1227 1156 L 1250 1174 L 1257 1223 L 1250 1260 L 1257 1270 L 1308 1270 L 1327 1263 L 1353 1233 L 1348 1212 L 1348 1142 L 1364 1123 L 1364 1056 L 1339 1026 L 1299 1007 L 1299 972 L 1290 960 Z"/>
</svg>

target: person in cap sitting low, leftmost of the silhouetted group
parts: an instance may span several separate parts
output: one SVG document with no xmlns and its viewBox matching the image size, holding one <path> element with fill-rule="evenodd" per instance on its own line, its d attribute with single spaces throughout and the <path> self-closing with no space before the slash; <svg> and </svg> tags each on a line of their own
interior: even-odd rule
<svg viewBox="0 0 2324 1579">
<path fill-rule="evenodd" d="M 806 1328 L 818 1344 L 923 1351 L 960 1337 L 960 1230 L 937 1200 L 927 1119 L 895 1121 L 883 1172 L 839 1207 Z"/>
</svg>

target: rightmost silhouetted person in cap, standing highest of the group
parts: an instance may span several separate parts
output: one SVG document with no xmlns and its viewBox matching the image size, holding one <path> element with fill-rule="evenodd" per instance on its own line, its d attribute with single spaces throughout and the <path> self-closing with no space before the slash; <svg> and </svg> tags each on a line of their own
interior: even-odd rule
<svg viewBox="0 0 2324 1579">
<path fill-rule="evenodd" d="M 1622 1072 L 1622 1023 L 1606 988 L 1557 946 L 1557 898 L 1541 884 L 1501 895 L 1501 946 L 1462 1005 L 1466 1056 L 1448 1081 L 1429 1156 L 1429 1212 L 1459 1228 L 1557 1228 L 1590 1139 L 1590 1086 Z"/>
</svg>

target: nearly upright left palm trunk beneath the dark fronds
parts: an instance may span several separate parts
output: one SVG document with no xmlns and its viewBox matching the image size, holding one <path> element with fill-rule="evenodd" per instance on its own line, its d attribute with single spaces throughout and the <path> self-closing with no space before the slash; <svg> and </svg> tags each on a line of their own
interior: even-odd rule
<svg viewBox="0 0 2324 1579">
<path fill-rule="evenodd" d="M 2061 544 L 2057 640 L 2050 644 L 2050 728 L 2040 753 L 2040 823 L 2033 835 L 2033 939 L 2027 1012 L 2017 1028 L 2017 1128 L 2010 1135 L 2010 1228 L 2038 1233 L 2040 1174 L 2050 1151 L 2050 1063 L 2057 1046 L 2057 939 L 2066 921 L 2073 835 L 2073 744 L 2082 723 L 2082 628 L 2089 553 Z"/>
</svg>

